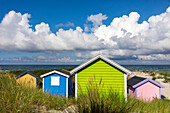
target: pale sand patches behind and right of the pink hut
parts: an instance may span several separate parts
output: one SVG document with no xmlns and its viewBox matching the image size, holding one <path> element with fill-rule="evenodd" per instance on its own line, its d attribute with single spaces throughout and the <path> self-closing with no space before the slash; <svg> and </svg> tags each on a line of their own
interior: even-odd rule
<svg viewBox="0 0 170 113">
<path fill-rule="evenodd" d="M 150 76 L 148 73 L 144 73 L 144 72 L 133 72 L 131 77 L 134 75 L 152 79 L 152 76 Z M 156 76 L 160 76 L 160 75 L 156 74 Z M 165 86 L 165 88 L 161 88 L 161 94 L 164 95 L 167 99 L 170 99 L 170 83 L 164 83 L 163 82 L 164 79 L 156 79 L 155 81 L 160 83 L 161 85 Z"/>
</svg>

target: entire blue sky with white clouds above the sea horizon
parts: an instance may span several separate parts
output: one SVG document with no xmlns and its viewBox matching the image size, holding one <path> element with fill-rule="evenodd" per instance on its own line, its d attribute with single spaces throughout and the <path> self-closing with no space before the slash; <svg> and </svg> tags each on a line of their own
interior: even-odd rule
<svg viewBox="0 0 170 113">
<path fill-rule="evenodd" d="M 97 54 L 121 64 L 170 64 L 169 6 L 169 0 L 1 0 L 0 64 L 80 64 Z"/>
</svg>

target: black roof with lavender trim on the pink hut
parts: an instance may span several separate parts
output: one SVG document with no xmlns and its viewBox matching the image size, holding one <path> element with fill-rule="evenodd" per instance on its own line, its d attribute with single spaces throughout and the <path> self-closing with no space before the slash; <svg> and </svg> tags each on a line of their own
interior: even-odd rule
<svg viewBox="0 0 170 113">
<path fill-rule="evenodd" d="M 162 86 L 161 84 L 155 82 L 154 80 L 150 78 L 143 78 L 143 77 L 138 77 L 138 76 L 133 76 L 132 78 L 128 79 L 127 85 L 133 88 L 137 88 L 146 82 L 151 82 L 160 88 L 165 88 L 164 86 Z"/>
</svg>

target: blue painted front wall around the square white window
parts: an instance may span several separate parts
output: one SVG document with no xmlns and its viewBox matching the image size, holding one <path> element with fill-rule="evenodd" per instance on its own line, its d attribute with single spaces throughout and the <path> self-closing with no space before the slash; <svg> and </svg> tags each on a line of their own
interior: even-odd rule
<svg viewBox="0 0 170 113">
<path fill-rule="evenodd" d="M 51 86 L 51 77 L 60 77 L 60 85 Z M 52 95 L 66 96 L 66 79 L 66 77 L 56 73 L 44 77 L 44 92 Z"/>
</svg>

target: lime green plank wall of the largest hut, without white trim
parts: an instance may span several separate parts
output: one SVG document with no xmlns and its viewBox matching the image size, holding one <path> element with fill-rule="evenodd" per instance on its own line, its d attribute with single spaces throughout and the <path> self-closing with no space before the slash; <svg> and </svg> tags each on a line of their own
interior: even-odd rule
<svg viewBox="0 0 170 113">
<path fill-rule="evenodd" d="M 124 73 L 103 60 L 97 60 L 80 70 L 77 74 L 78 95 L 81 92 L 86 93 L 88 81 L 98 84 L 102 79 L 103 89 L 105 93 L 110 90 L 119 92 L 124 95 Z"/>
</svg>

